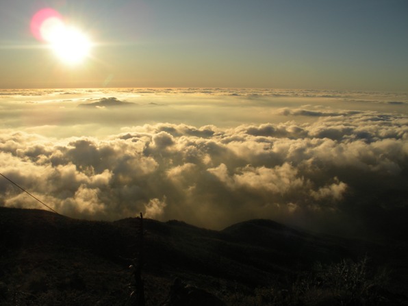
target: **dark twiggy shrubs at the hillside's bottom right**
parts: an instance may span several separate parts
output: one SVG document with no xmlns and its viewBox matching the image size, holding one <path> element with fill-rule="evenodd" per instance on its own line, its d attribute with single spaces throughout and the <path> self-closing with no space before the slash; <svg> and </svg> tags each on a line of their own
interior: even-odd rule
<svg viewBox="0 0 408 306">
<path fill-rule="evenodd" d="M 387 291 L 388 275 L 387 270 L 370 265 L 368 257 L 358 262 L 343 259 L 335 264 L 317 263 L 286 285 L 257 288 L 252 296 L 235 292 L 226 302 L 231 306 L 403 305 Z"/>
</svg>

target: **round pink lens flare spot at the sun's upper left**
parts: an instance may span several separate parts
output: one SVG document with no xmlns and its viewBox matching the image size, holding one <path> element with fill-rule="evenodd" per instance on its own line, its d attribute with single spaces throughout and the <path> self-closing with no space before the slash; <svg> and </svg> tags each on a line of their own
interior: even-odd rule
<svg viewBox="0 0 408 306">
<path fill-rule="evenodd" d="M 50 41 L 55 27 L 62 27 L 64 23 L 62 16 L 52 8 L 43 8 L 31 18 L 31 33 L 35 38 L 42 41 Z"/>
</svg>

